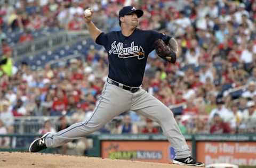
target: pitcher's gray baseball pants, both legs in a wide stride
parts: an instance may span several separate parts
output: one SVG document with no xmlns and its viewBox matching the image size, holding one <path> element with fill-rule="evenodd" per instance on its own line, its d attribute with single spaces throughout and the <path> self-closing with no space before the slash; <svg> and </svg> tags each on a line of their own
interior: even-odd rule
<svg viewBox="0 0 256 168">
<path fill-rule="evenodd" d="M 168 107 L 142 88 L 131 93 L 129 90 L 124 90 L 108 82 L 103 87 L 91 117 L 57 133 L 50 133 L 45 140 L 46 146 L 58 147 L 74 139 L 82 138 L 100 129 L 115 116 L 130 110 L 161 125 L 164 135 L 175 149 L 175 158 L 191 156 L 185 138 Z"/>
</svg>

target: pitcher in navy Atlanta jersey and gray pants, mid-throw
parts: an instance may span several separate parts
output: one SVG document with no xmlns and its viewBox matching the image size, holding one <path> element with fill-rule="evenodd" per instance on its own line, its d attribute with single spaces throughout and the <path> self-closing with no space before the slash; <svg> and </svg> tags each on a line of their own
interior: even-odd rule
<svg viewBox="0 0 256 168">
<path fill-rule="evenodd" d="M 164 135 L 175 149 L 174 164 L 204 166 L 191 157 L 172 111 L 141 87 L 148 54 L 156 49 L 158 56 L 175 63 L 178 44 L 174 38 L 153 30 L 140 30 L 138 18 L 142 10 L 124 6 L 119 11 L 121 31 L 104 33 L 91 21 L 93 11 L 87 9 L 85 21 L 91 38 L 105 47 L 108 53 L 109 74 L 101 96 L 89 119 L 75 123 L 57 133 L 46 133 L 34 140 L 29 152 L 58 147 L 100 129 L 124 111 L 134 111 L 161 125 Z"/>
</svg>

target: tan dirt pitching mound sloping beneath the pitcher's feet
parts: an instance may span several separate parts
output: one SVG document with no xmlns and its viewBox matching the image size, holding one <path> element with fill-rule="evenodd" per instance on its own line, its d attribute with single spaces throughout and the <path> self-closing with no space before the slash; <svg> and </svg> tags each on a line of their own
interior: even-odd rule
<svg viewBox="0 0 256 168">
<path fill-rule="evenodd" d="M 65 168 L 65 167 L 83 167 L 83 168 L 185 168 L 191 166 L 181 166 L 174 164 L 151 163 L 151 162 L 138 162 L 138 161 L 125 161 L 117 159 L 102 159 L 98 157 L 81 157 L 81 156 L 68 156 L 68 155 L 54 155 L 54 154 L 41 154 L 41 153 L 20 153 L 20 152 L 0 152 L 0 167 L 26 167 L 26 168 Z"/>
</svg>

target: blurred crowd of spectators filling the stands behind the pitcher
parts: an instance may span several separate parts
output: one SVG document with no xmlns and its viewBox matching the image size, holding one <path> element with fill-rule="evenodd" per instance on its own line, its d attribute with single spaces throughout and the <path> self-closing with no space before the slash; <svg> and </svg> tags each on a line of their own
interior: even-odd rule
<svg viewBox="0 0 256 168">
<path fill-rule="evenodd" d="M 83 9 L 91 7 L 99 28 L 119 30 L 117 13 L 123 5 L 145 12 L 139 28 L 166 33 L 179 43 L 175 64 L 150 53 L 142 85 L 166 106 L 183 107 L 175 113 L 182 133 L 256 132 L 256 1 L 17 1 L 1 6 L 0 27 L 82 30 Z M 0 31 L 2 41 L 5 36 Z M 11 51 L 3 53 L 10 58 Z M 13 132 L 16 116 L 69 116 L 70 124 L 90 117 L 107 78 L 108 58 L 103 49 L 91 47 L 57 68 L 47 64 L 32 71 L 22 62 L 10 73 L 2 66 L 0 134 Z M 234 96 L 235 91 L 240 93 Z M 130 111 L 113 122 L 100 131 L 161 132 L 159 125 Z"/>
</svg>

